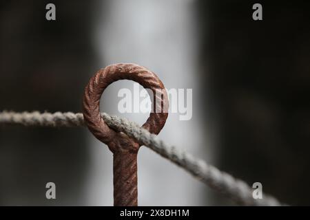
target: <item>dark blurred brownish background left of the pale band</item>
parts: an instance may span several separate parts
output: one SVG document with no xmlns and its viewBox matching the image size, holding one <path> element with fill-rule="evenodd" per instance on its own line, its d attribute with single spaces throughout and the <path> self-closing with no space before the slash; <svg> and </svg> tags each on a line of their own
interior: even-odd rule
<svg viewBox="0 0 310 220">
<path fill-rule="evenodd" d="M 83 87 L 96 70 L 91 44 L 94 1 L 0 4 L 0 109 L 81 111 Z M 0 128 L 1 205 L 83 203 L 89 159 L 82 129 Z M 56 184 L 56 199 L 45 184 Z"/>
</svg>

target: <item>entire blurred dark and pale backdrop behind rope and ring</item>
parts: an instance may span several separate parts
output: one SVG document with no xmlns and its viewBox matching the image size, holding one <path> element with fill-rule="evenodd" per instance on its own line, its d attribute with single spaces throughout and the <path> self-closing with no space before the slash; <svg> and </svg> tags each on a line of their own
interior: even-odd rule
<svg viewBox="0 0 310 220">
<path fill-rule="evenodd" d="M 45 5 L 56 5 L 56 21 Z M 252 5 L 262 4 L 262 21 Z M 192 89 L 190 120 L 159 136 L 208 163 L 310 205 L 307 1 L 110 0 L 0 3 L 0 110 L 81 112 L 100 68 L 137 63 L 167 89 Z M 119 113 L 110 85 L 101 109 Z M 45 184 L 56 184 L 56 199 Z M 234 205 L 149 148 L 138 154 L 141 206 Z M 85 128 L 0 126 L 0 205 L 112 206 L 112 153 Z"/>
</svg>

